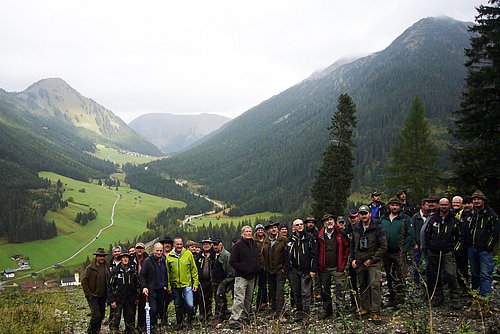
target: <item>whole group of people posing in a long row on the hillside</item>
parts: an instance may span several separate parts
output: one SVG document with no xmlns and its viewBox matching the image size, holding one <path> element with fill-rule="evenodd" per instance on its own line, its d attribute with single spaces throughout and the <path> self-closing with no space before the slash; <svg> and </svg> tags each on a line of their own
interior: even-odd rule
<svg viewBox="0 0 500 334">
<path fill-rule="evenodd" d="M 326 213 L 322 226 L 314 217 L 296 219 L 290 227 L 273 221 L 243 226 L 231 252 L 218 238 L 203 238 L 200 245 L 166 237 L 154 244 L 150 255 L 141 242 L 127 251 L 116 246 L 108 263 L 107 253 L 99 248 L 82 279 L 92 314 L 88 332 L 99 332 L 109 305 L 111 330 L 118 331 L 123 316 L 125 333 L 146 328 L 156 333 L 158 321 L 167 323 L 172 301 L 176 330 L 190 326 L 195 316 L 213 325 L 229 318 L 228 327 L 240 329 L 251 321 L 254 307 L 269 311 L 268 319 L 283 322 L 293 314 L 294 320 L 303 321 L 312 316 L 315 300 L 321 302 L 322 320 L 339 314 L 347 291 L 352 311 L 381 324 L 382 307 L 404 303 L 410 269 L 413 284 L 434 306 L 445 301 L 444 280 L 452 307 L 460 307 L 469 277 L 481 296 L 491 293 L 500 226 L 481 191 L 451 202 L 429 196 L 418 209 L 404 190 L 387 205 L 380 196 L 373 192 L 370 204 L 350 210 L 347 217 Z M 385 304 L 382 265 L 389 289 Z M 285 303 L 287 280 L 293 313 Z"/>
</svg>

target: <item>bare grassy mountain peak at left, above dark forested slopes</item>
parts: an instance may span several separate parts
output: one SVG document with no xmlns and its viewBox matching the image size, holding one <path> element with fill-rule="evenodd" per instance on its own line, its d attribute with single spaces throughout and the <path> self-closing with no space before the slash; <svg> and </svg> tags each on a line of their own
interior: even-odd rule
<svg viewBox="0 0 500 334">
<path fill-rule="evenodd" d="M 81 137 L 94 143 L 144 154 L 160 154 L 154 145 L 129 128 L 111 110 L 84 97 L 62 79 L 43 79 L 23 92 L 9 94 L 33 115 L 74 125 Z"/>
</svg>

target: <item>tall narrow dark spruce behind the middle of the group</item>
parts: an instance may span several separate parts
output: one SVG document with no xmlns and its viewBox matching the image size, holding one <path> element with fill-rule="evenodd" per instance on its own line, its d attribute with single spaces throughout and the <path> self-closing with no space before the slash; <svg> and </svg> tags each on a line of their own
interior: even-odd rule
<svg viewBox="0 0 500 334">
<path fill-rule="evenodd" d="M 323 163 L 311 188 L 312 212 L 317 219 L 325 213 L 344 212 L 354 178 L 352 151 L 355 147 L 356 105 L 344 93 L 339 96 L 337 110 L 328 128 L 332 140 L 323 152 Z"/>
</svg>

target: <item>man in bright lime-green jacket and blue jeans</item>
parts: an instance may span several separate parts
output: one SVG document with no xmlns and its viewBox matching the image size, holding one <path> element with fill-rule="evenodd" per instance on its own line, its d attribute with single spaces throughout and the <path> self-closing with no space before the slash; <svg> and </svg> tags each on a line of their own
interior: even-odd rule
<svg viewBox="0 0 500 334">
<path fill-rule="evenodd" d="M 167 271 L 169 278 L 168 290 L 174 294 L 175 315 L 177 325 L 175 330 L 181 330 L 184 311 L 187 311 L 188 325 L 194 316 L 193 292 L 198 289 L 198 269 L 193 254 L 184 249 L 182 238 L 174 239 L 174 249 L 167 256 Z"/>
</svg>

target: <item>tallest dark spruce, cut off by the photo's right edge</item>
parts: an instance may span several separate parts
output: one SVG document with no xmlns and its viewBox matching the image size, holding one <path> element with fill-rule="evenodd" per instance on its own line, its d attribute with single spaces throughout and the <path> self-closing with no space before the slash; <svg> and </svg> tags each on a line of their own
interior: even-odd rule
<svg viewBox="0 0 500 334">
<path fill-rule="evenodd" d="M 500 1 L 477 8 L 471 47 L 465 50 L 467 89 L 455 122 L 455 184 L 463 194 L 481 189 L 500 207 Z"/>
</svg>

